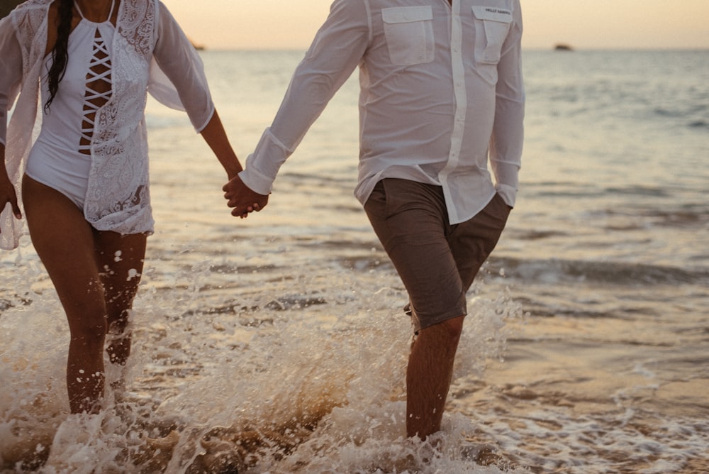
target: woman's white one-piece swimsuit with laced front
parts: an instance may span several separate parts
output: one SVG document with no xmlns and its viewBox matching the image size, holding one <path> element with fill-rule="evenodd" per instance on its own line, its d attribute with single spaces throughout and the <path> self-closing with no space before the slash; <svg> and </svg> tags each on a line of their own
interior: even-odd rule
<svg viewBox="0 0 709 474">
<path fill-rule="evenodd" d="M 115 0 L 114 0 L 115 4 Z M 28 157 L 26 173 L 33 180 L 65 194 L 84 209 L 91 171 L 91 138 L 94 116 L 111 98 L 113 34 L 108 20 L 94 23 L 74 2 L 82 20 L 69 35 L 69 62 L 49 111 L 44 111 L 42 129 Z M 52 56 L 45 58 L 45 72 Z M 94 87 L 108 89 L 96 92 Z M 108 86 L 108 87 L 106 87 Z M 49 98 L 48 75 L 42 76 L 42 104 Z"/>
</svg>

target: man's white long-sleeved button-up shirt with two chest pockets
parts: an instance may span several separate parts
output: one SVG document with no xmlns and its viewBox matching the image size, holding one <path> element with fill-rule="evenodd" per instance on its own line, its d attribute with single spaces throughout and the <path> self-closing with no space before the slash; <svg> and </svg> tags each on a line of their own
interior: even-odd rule
<svg viewBox="0 0 709 474">
<path fill-rule="evenodd" d="M 451 224 L 513 206 L 525 94 L 519 0 L 335 0 L 240 174 L 260 194 L 359 65 L 359 182 L 440 185 Z M 488 170 L 488 158 L 491 170 Z"/>
</svg>

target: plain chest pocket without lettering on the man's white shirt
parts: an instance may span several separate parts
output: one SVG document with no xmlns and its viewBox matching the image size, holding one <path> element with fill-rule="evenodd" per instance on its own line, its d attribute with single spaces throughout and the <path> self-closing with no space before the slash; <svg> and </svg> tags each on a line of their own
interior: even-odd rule
<svg viewBox="0 0 709 474">
<path fill-rule="evenodd" d="M 434 58 L 433 9 L 400 6 L 381 10 L 389 59 L 398 66 L 432 62 Z"/>
</svg>

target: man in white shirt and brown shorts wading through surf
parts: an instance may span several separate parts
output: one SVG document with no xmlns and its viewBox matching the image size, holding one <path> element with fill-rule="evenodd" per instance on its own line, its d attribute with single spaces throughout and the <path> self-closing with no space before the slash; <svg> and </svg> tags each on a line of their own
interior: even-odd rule
<svg viewBox="0 0 709 474">
<path fill-rule="evenodd" d="M 359 65 L 354 194 L 410 298 L 408 436 L 440 429 L 466 292 L 515 203 L 521 35 L 519 0 L 335 0 L 246 170 L 224 187 L 234 216 L 262 209 Z"/>
</svg>

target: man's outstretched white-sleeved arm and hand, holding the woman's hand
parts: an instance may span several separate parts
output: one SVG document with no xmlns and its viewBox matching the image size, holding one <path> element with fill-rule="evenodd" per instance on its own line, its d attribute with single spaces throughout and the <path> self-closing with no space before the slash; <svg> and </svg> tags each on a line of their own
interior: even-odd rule
<svg viewBox="0 0 709 474">
<path fill-rule="evenodd" d="M 228 205 L 237 208 L 234 215 L 254 202 L 241 200 L 248 194 L 244 187 L 262 198 L 271 192 L 281 165 L 362 60 L 370 34 L 366 1 L 335 0 L 296 68 L 272 125 L 247 158 L 246 170 L 225 184 Z"/>
</svg>

